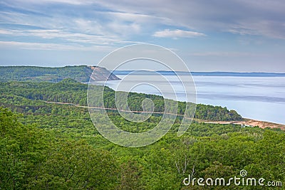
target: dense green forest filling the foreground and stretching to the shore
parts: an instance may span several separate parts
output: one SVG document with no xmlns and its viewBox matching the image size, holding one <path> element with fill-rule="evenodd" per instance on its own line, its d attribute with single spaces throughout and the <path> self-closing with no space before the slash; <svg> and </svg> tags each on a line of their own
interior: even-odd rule
<svg viewBox="0 0 285 190">
<path fill-rule="evenodd" d="M 86 107 L 87 85 L 0 83 L 0 189 L 264 189 L 264 186 L 185 186 L 193 178 L 229 179 L 247 170 L 248 177 L 282 181 L 285 176 L 285 132 L 282 130 L 193 122 L 177 137 L 179 120 L 170 132 L 147 147 L 120 147 L 102 137 Z M 113 107 L 106 88 L 105 105 Z M 131 109 L 142 109 L 148 97 L 163 110 L 162 97 L 130 93 Z M 49 102 L 67 102 L 57 105 Z M 7 107 L 7 108 L 5 108 Z M 185 103 L 179 102 L 183 113 Z M 100 113 L 99 113 L 100 114 Z M 100 115 L 99 115 L 100 116 Z M 111 119 L 123 130 L 141 132 L 160 115 L 142 123 L 116 112 Z M 237 112 L 197 105 L 203 120 L 241 120 Z M 270 187 L 269 189 L 282 189 Z"/>
</svg>

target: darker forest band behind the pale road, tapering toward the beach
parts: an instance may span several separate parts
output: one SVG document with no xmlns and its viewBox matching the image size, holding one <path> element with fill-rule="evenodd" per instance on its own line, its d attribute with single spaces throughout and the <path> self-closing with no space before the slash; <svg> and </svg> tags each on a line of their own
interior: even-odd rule
<svg viewBox="0 0 285 190">
<path fill-rule="evenodd" d="M 33 83 L 33 82 L 7 82 L 0 83 L 1 104 L 21 105 L 30 100 L 44 100 L 48 102 L 64 102 L 86 106 L 88 85 L 77 83 L 76 80 L 64 79 L 59 83 Z M 96 86 L 96 88 L 102 88 Z M 105 87 L 104 107 L 116 108 L 115 91 Z M 99 91 L 99 90 L 98 90 Z M 1 98 L 0 97 L 0 98 Z M 155 112 L 164 111 L 164 99 L 158 95 L 145 95 L 142 93 L 129 93 L 128 105 L 130 110 L 142 111 L 142 100 L 150 98 L 155 105 Z M 11 101 L 13 103 L 11 103 Z M 17 103 L 15 103 L 17 102 Z M 178 114 L 184 115 L 186 104 L 178 102 Z M 41 112 L 45 106 L 34 107 L 33 105 L 25 107 L 31 112 Z M 21 109 L 18 109 L 21 112 Z M 46 110 L 44 110 L 46 112 Z M 242 116 L 234 110 L 227 110 L 227 107 L 212 105 L 197 105 L 195 118 L 200 120 L 242 120 Z"/>
</svg>

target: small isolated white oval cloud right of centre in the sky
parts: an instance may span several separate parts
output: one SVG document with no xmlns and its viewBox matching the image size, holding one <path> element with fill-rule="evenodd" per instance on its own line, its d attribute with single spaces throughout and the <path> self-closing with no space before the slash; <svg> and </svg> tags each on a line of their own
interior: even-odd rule
<svg viewBox="0 0 285 190">
<path fill-rule="evenodd" d="M 182 31 L 179 29 L 171 31 L 170 29 L 165 29 L 163 31 L 156 31 L 152 36 L 159 38 L 193 38 L 206 35 L 195 31 Z"/>
</svg>

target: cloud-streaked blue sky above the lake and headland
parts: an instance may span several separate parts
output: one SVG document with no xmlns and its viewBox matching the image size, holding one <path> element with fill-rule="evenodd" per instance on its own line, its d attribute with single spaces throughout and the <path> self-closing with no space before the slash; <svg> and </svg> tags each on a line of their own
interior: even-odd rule
<svg viewBox="0 0 285 190">
<path fill-rule="evenodd" d="M 285 73 L 284 10 L 283 0 L 1 0 L 0 65 L 97 65 L 152 43 L 191 71 Z"/>
</svg>

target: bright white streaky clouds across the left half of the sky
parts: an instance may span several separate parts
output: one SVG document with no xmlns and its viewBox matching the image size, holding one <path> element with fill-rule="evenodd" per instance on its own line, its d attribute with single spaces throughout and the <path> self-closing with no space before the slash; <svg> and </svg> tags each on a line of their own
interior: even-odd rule
<svg viewBox="0 0 285 190">
<path fill-rule="evenodd" d="M 43 4 L 43 2 L 41 3 Z M 76 9 L 78 9 L 78 13 L 82 11 L 82 8 Z M 31 8 L 28 10 L 33 11 Z M 36 11 L 40 11 L 40 9 Z M 33 16 L 33 14 L 25 14 L 21 11 L 0 11 L 0 21 L 13 25 L 12 28 L 4 27 L 0 34 L 9 35 L 10 38 L 29 36 L 29 39 L 33 41 L 36 38 L 37 42 L 50 40 L 52 43 L 73 42 L 93 46 L 138 43 L 138 41 L 132 41 L 130 36 L 141 31 L 140 24 L 135 20 L 130 21 L 131 16 L 128 14 L 125 16 L 129 19 L 125 18 L 124 14 L 110 14 L 110 12 L 104 11 L 91 11 L 89 16 L 74 13 L 66 15 L 64 11 L 54 10 L 46 12 L 46 14 L 48 16 Z"/>
</svg>

